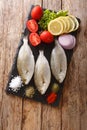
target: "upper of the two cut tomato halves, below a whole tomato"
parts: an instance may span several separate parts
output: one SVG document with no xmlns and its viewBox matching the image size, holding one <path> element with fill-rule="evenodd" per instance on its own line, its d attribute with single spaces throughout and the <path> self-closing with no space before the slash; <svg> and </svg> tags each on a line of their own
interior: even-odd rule
<svg viewBox="0 0 87 130">
<path fill-rule="evenodd" d="M 28 20 L 26 23 L 26 26 L 30 32 L 37 32 L 38 31 L 38 24 L 34 19 Z"/>
</svg>

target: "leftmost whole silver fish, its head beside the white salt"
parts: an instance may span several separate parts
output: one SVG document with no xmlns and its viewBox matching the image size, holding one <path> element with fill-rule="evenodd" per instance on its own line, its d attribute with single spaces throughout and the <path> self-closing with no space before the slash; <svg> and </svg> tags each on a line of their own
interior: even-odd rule
<svg viewBox="0 0 87 130">
<path fill-rule="evenodd" d="M 30 82 L 34 74 L 34 66 L 34 55 L 30 46 L 28 45 L 28 39 L 24 37 L 23 45 L 21 46 L 18 53 L 17 70 L 25 85 L 27 85 Z"/>
</svg>

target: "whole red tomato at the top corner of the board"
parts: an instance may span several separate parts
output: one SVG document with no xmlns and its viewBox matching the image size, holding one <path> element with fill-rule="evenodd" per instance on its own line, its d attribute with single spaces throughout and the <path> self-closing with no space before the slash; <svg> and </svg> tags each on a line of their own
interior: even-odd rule
<svg viewBox="0 0 87 130">
<path fill-rule="evenodd" d="M 35 20 L 40 20 L 43 15 L 43 9 L 37 5 L 31 10 L 31 17 Z"/>
</svg>

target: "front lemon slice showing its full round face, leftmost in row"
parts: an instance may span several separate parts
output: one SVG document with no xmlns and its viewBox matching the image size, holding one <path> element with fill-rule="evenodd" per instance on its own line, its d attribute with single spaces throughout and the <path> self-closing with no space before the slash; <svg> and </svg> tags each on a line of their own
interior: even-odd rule
<svg viewBox="0 0 87 130">
<path fill-rule="evenodd" d="M 48 31 L 52 34 L 52 35 L 60 35 L 63 32 L 63 24 L 61 21 L 58 20 L 51 20 L 48 24 Z"/>
</svg>

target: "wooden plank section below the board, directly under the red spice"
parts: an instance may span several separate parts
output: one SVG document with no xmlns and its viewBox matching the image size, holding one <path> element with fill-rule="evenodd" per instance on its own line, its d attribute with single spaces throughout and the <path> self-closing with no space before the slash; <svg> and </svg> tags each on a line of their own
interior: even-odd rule
<svg viewBox="0 0 87 130">
<path fill-rule="evenodd" d="M 61 103 L 56 108 L 43 105 L 41 130 L 61 130 L 61 114 Z"/>
</svg>

